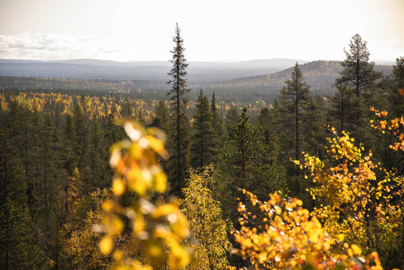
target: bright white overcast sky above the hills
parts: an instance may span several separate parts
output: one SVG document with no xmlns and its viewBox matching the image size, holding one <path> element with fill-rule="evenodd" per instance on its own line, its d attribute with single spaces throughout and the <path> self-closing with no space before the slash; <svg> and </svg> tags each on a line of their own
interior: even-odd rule
<svg viewBox="0 0 404 270">
<path fill-rule="evenodd" d="M 404 56 L 404 0 L 0 0 L 0 58 L 166 61 L 176 22 L 188 61 Z"/>
</svg>

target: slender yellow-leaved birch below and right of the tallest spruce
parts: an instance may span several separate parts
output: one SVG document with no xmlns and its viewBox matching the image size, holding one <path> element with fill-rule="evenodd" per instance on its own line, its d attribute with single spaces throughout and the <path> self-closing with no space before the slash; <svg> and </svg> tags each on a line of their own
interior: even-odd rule
<svg viewBox="0 0 404 270">
<path fill-rule="evenodd" d="M 224 269 L 228 262 L 226 252 L 228 220 L 223 219 L 220 202 L 212 195 L 211 187 L 217 174 L 212 165 L 190 170 L 187 187 L 181 200 L 189 229 L 196 241 L 191 241 L 194 260 L 187 269 Z"/>
</svg>

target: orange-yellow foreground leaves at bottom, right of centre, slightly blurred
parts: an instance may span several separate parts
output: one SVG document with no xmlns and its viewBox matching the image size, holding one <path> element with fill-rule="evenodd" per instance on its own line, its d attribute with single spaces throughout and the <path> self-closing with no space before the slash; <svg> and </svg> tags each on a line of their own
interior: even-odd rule
<svg viewBox="0 0 404 270">
<path fill-rule="evenodd" d="M 260 201 L 253 193 L 242 192 L 264 213 L 263 218 L 258 218 L 240 201 L 238 221 L 241 228 L 232 231 L 240 245 L 235 252 L 248 259 L 255 269 L 301 269 L 304 266 L 312 269 L 360 269 L 367 262 L 360 257 L 362 250 L 359 246 L 343 243 L 342 235 L 331 236 L 316 217 L 310 217 L 301 200 L 284 198 L 280 192 L 275 192 L 269 194 L 268 201 Z M 375 258 L 369 259 L 376 261 Z M 361 261 L 362 265 L 358 266 L 356 262 Z"/>
</svg>

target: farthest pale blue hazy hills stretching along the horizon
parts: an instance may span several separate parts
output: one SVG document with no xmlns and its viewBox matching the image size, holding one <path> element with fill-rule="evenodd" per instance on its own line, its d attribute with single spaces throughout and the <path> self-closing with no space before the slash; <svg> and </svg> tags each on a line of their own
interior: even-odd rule
<svg viewBox="0 0 404 270">
<path fill-rule="evenodd" d="M 212 83 L 236 77 L 269 74 L 293 66 L 297 59 L 262 59 L 241 62 L 198 62 L 188 66 L 190 84 Z M 0 76 L 34 76 L 79 79 L 135 79 L 163 83 L 168 80 L 168 61 L 117 62 L 98 59 L 58 61 L 0 59 Z"/>
</svg>

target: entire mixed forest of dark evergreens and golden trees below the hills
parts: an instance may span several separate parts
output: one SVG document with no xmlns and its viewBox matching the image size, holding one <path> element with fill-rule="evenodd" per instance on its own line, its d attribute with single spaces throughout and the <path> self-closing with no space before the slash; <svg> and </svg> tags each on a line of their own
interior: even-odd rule
<svg viewBox="0 0 404 270">
<path fill-rule="evenodd" d="M 168 92 L 0 77 L 1 269 L 403 269 L 404 56 L 192 94 L 183 42 Z"/>
</svg>

